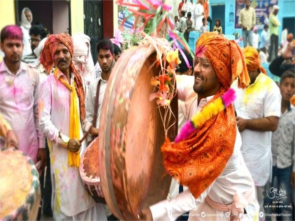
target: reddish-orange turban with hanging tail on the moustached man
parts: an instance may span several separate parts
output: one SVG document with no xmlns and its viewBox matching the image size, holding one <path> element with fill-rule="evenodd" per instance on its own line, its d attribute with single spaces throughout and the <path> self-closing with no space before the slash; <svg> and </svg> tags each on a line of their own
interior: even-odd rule
<svg viewBox="0 0 295 221">
<path fill-rule="evenodd" d="M 59 44 L 64 44 L 67 49 L 69 50 L 71 57 L 73 57 L 73 42 L 72 38 L 69 34 L 52 34 L 49 35 L 47 38 L 44 49 L 41 52 L 40 55 L 40 63 L 43 64 L 45 67 L 47 73 L 50 73 L 54 66 L 54 55 L 56 50 L 59 47 Z M 70 65 L 70 71 L 75 75 L 75 88 L 77 91 L 77 96 L 79 98 L 79 105 L 80 105 L 80 119 L 83 122 L 83 120 L 86 117 L 86 111 L 85 111 L 85 93 L 83 88 L 83 82 L 79 75 L 79 73 L 76 71 L 75 66 L 73 62 L 71 62 Z"/>
</svg>

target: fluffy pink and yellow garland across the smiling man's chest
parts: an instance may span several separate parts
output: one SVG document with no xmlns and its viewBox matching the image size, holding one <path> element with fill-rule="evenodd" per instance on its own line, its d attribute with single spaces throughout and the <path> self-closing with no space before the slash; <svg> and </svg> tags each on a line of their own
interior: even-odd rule
<svg viewBox="0 0 295 221">
<path fill-rule="evenodd" d="M 180 129 L 175 142 L 189 137 L 196 129 L 200 128 L 207 120 L 226 109 L 236 100 L 236 91 L 228 89 L 222 96 L 208 103 L 200 112 L 196 113 Z"/>
</svg>

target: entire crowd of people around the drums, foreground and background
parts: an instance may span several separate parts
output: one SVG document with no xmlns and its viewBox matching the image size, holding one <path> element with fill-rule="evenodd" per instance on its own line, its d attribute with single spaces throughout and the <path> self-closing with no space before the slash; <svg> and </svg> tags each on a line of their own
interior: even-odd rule
<svg viewBox="0 0 295 221">
<path fill-rule="evenodd" d="M 198 220 L 201 214 L 201 220 L 211 220 L 206 214 L 214 214 L 214 219 L 253 221 L 271 220 L 266 214 L 273 213 L 294 219 L 293 36 L 287 35 L 280 56 L 274 53 L 272 59 L 269 54 L 269 69 L 280 77 L 277 85 L 261 65 L 267 25 L 260 52 L 252 47 L 259 40 L 253 37 L 255 11 L 249 2 L 239 16 L 244 49 L 224 37 L 219 19 L 212 27 L 206 0 L 196 5 L 192 0 L 180 2 L 174 28 L 186 39 L 191 30 L 199 30 L 201 36 L 194 58 L 184 50 L 185 59 L 179 52 L 178 126 L 188 127 L 201 119 L 198 114 L 204 122 L 194 123 L 187 136 L 178 130 L 182 138 L 162 146 L 164 165 L 173 177 L 168 199 L 144 208 L 139 219 Z M 279 9 L 273 9 L 270 46 L 278 41 Z M 79 163 L 98 136 L 107 83 L 124 55 L 123 39 L 118 35 L 100 40 L 94 64 L 89 36 L 49 34 L 40 24 L 30 25 L 28 8 L 22 13 L 21 27 L 9 25 L 0 32 L 1 147 L 19 148 L 37 166 L 44 215 L 54 220 L 117 220 L 85 190 Z M 208 114 L 212 107 L 216 111 Z"/>
</svg>

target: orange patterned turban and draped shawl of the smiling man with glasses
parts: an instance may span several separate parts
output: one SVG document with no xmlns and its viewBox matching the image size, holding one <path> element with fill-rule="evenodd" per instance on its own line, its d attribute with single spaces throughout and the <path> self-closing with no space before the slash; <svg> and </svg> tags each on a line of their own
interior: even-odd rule
<svg viewBox="0 0 295 221">
<path fill-rule="evenodd" d="M 206 32 L 196 44 L 196 55 L 201 56 L 202 53 L 212 63 L 222 84 L 211 102 L 223 95 L 237 77 L 240 87 L 249 84 L 244 56 L 235 41 L 215 32 Z M 235 141 L 236 117 L 233 105 L 230 105 L 188 138 L 177 143 L 166 138 L 161 148 L 164 166 L 197 198 L 221 174 L 233 154 Z"/>
</svg>

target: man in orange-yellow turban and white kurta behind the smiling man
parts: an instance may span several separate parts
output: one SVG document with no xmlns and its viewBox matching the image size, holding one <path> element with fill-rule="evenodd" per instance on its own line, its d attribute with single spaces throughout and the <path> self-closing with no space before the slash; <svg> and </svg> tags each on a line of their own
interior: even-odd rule
<svg viewBox="0 0 295 221">
<path fill-rule="evenodd" d="M 281 95 L 276 83 L 266 76 L 259 54 L 253 47 L 244 48 L 251 83 L 239 89 L 236 83 L 236 124 L 242 138 L 241 153 L 255 183 L 260 212 L 264 214 L 263 192 L 271 174 L 271 132 L 281 115 Z"/>
</svg>

